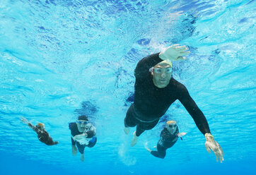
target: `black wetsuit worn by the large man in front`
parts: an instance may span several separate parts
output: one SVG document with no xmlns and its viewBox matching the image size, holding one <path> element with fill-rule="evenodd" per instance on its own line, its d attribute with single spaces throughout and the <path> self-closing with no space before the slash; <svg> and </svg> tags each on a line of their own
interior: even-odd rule
<svg viewBox="0 0 256 175">
<path fill-rule="evenodd" d="M 124 119 L 124 126 L 136 126 L 136 135 L 139 136 L 145 130 L 156 126 L 159 119 L 173 104 L 176 99 L 180 100 L 183 106 L 190 113 L 199 131 L 210 133 L 209 125 L 202 111 L 197 107 L 185 85 L 182 85 L 173 77 L 170 83 L 164 88 L 158 88 L 153 84 L 153 76 L 150 68 L 163 61 L 158 54 L 141 59 L 134 71 L 134 104 L 129 107 Z"/>
</svg>

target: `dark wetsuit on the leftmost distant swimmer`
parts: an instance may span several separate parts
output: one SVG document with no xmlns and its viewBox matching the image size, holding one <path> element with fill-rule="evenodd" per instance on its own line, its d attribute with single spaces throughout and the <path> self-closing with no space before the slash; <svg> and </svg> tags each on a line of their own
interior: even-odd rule
<svg viewBox="0 0 256 175">
<path fill-rule="evenodd" d="M 57 141 L 53 141 L 51 136 L 49 135 L 49 133 L 47 133 L 47 131 L 45 131 L 45 129 L 41 130 L 33 126 L 33 124 L 31 123 L 28 123 L 28 126 L 30 126 L 30 128 L 32 128 L 37 133 L 37 138 L 42 143 L 45 143 L 46 145 L 57 145 L 59 143 Z"/>
</svg>

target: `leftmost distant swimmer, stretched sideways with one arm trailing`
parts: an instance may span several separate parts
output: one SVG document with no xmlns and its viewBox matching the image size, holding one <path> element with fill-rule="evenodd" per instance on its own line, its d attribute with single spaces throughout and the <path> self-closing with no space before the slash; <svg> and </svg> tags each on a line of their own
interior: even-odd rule
<svg viewBox="0 0 256 175">
<path fill-rule="evenodd" d="M 37 123 L 36 126 L 33 126 L 27 119 L 21 117 L 21 121 L 27 124 L 30 128 L 32 128 L 35 133 L 37 133 L 37 138 L 46 145 L 57 145 L 59 142 L 53 141 L 49 133 L 45 131 L 45 124 L 44 123 Z"/>
</svg>

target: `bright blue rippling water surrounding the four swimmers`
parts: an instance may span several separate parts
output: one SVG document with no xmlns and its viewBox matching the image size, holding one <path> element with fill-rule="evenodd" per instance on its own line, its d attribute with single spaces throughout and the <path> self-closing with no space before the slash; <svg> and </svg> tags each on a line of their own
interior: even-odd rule
<svg viewBox="0 0 256 175">
<path fill-rule="evenodd" d="M 254 0 L 1 0 L 0 174 L 255 174 L 255 8 Z M 134 147 L 134 128 L 123 132 L 136 63 L 175 43 L 191 54 L 173 63 L 173 76 L 204 112 L 222 164 L 180 102 L 165 117 L 187 135 L 165 159 L 144 149 L 163 122 Z M 68 127 L 81 112 L 98 135 L 85 162 L 71 155 Z M 40 143 L 21 116 L 45 123 L 59 145 Z"/>
</svg>

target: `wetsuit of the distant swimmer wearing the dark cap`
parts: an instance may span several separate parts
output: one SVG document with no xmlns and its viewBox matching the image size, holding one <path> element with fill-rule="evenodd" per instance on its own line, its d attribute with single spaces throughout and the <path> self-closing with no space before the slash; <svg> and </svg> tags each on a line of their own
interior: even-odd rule
<svg viewBox="0 0 256 175">
<path fill-rule="evenodd" d="M 86 130 L 84 132 L 80 132 L 78 131 L 77 128 L 77 124 L 76 123 L 69 123 L 69 129 L 71 130 L 71 135 L 74 137 L 75 135 L 80 135 L 83 133 L 87 133 L 87 138 L 91 138 L 88 141 L 88 144 L 81 144 L 78 141 L 74 140 L 71 137 L 71 144 L 72 145 L 76 145 L 76 147 L 78 147 L 78 151 L 83 154 L 83 150 L 84 148 L 87 147 L 93 147 L 96 142 L 97 142 L 97 138 L 95 137 L 96 135 L 96 131 L 95 131 L 95 127 L 91 124 L 91 126 L 89 128 L 86 128 Z"/>
</svg>

